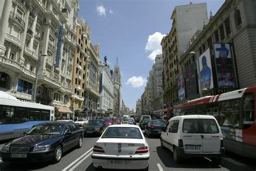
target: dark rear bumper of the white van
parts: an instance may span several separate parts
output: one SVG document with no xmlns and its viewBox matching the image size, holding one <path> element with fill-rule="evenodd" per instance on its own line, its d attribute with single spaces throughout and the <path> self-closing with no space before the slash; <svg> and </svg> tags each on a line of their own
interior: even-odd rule
<svg viewBox="0 0 256 171">
<path fill-rule="evenodd" d="M 183 147 L 176 147 L 177 154 L 181 157 L 216 157 L 219 158 L 225 154 L 225 148 L 220 148 L 218 153 L 185 153 Z"/>
</svg>

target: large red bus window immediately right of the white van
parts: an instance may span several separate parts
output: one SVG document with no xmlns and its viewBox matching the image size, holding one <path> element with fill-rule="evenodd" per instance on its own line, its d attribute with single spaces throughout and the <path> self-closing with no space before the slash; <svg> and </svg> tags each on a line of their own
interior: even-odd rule
<svg viewBox="0 0 256 171">
<path fill-rule="evenodd" d="M 239 99 L 221 101 L 219 115 L 220 126 L 239 128 Z"/>
</svg>

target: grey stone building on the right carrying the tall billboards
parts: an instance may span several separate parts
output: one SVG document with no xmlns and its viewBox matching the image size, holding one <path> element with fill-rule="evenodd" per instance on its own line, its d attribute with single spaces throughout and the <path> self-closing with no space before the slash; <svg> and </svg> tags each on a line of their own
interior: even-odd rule
<svg viewBox="0 0 256 171">
<path fill-rule="evenodd" d="M 256 31 L 256 2 L 252 0 L 225 1 L 215 16 L 210 16 L 210 21 L 205 25 L 203 31 L 198 36 L 193 36 L 190 40 L 190 47 L 179 59 L 180 73 L 194 65 L 197 71 L 197 94 L 186 97 L 191 100 L 205 95 L 215 95 L 233 91 L 237 88 L 245 88 L 256 85 L 256 53 L 255 31 Z M 221 62 L 226 62 L 222 70 L 226 70 L 227 65 L 233 66 L 232 77 L 223 79 L 219 72 L 218 58 L 223 56 L 220 47 L 225 51 L 226 57 L 230 55 L 230 63 L 226 58 L 221 57 Z M 202 87 L 199 78 L 201 76 L 201 56 L 208 51 L 212 70 L 213 85 L 209 88 Z M 191 52 L 194 52 L 191 55 Z M 218 73 L 218 74 L 217 74 Z M 248 74 L 249 73 L 249 74 Z M 221 77 L 219 77 L 221 76 Z M 222 85 L 221 82 L 224 82 Z M 232 83 L 232 84 L 231 84 Z M 229 85 L 228 85 L 229 84 Z"/>
</svg>

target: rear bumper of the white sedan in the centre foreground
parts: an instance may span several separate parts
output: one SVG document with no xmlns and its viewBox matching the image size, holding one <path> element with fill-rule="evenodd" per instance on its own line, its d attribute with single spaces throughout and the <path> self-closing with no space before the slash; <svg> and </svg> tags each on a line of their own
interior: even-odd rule
<svg viewBox="0 0 256 171">
<path fill-rule="evenodd" d="M 145 169 L 149 165 L 149 155 L 143 158 L 116 158 L 116 156 L 104 157 L 92 154 L 92 163 L 94 167 L 100 166 L 104 169 Z"/>
</svg>

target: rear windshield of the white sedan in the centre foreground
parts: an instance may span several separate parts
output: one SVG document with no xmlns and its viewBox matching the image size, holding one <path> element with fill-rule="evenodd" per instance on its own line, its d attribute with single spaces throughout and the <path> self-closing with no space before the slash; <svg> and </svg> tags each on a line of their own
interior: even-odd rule
<svg viewBox="0 0 256 171">
<path fill-rule="evenodd" d="M 106 129 L 102 138 L 130 138 L 142 139 L 139 128 L 134 127 L 109 127 Z"/>
</svg>

